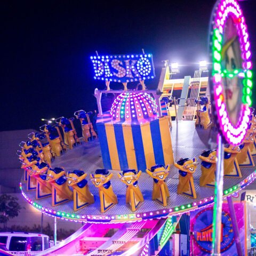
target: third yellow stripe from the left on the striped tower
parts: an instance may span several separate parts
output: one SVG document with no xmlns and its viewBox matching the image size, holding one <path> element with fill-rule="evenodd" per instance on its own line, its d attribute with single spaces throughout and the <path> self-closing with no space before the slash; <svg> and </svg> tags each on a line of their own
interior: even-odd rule
<svg viewBox="0 0 256 256">
<path fill-rule="evenodd" d="M 147 168 L 156 165 L 150 123 L 140 126 Z M 143 170 L 145 171 L 145 170 Z"/>
</svg>

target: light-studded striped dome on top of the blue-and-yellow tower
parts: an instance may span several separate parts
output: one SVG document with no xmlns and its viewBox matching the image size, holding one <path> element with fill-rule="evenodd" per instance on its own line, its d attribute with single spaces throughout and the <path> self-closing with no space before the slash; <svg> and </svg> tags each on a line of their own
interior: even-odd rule
<svg viewBox="0 0 256 256">
<path fill-rule="evenodd" d="M 116 121 L 153 118 L 157 115 L 156 101 L 148 93 L 121 93 L 114 100 L 110 114 Z"/>
</svg>

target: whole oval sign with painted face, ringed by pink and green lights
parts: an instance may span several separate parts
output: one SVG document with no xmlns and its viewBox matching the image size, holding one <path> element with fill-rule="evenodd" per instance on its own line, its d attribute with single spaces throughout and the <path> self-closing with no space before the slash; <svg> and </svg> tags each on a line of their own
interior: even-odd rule
<svg viewBox="0 0 256 256">
<path fill-rule="evenodd" d="M 213 10 L 210 33 L 212 108 L 222 137 L 232 145 L 239 145 L 248 129 L 252 105 L 249 35 L 235 0 L 220 0 Z"/>
</svg>

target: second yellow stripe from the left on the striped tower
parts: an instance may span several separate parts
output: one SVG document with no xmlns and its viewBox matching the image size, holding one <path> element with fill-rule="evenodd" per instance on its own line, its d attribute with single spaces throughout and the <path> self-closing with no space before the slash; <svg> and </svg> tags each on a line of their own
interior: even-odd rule
<svg viewBox="0 0 256 256">
<path fill-rule="evenodd" d="M 133 137 L 132 137 L 132 127 L 130 125 L 123 125 L 123 134 L 124 134 L 124 145 L 126 151 L 126 157 L 129 169 L 135 169 L 138 171 L 137 168 L 137 161 L 135 156 L 135 149 L 133 144 Z"/>
</svg>

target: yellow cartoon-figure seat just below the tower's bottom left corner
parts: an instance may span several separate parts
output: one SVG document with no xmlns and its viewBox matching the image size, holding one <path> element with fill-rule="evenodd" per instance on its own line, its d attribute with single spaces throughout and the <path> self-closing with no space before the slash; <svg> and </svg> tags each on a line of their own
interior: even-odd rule
<svg viewBox="0 0 256 256">
<path fill-rule="evenodd" d="M 99 189 L 101 212 L 106 212 L 118 203 L 117 196 L 110 182 L 112 177 L 113 173 L 109 173 L 106 169 L 97 169 L 95 174 L 91 174 L 93 185 Z"/>
</svg>

